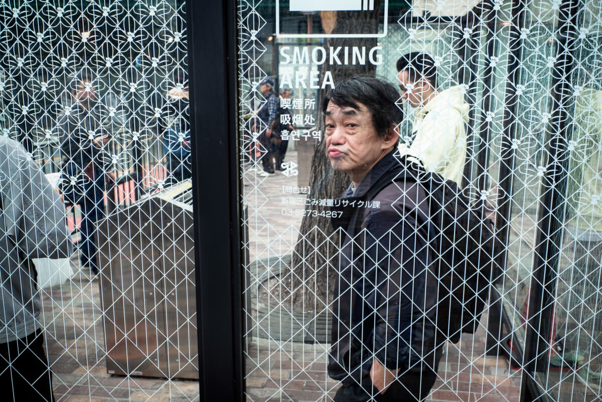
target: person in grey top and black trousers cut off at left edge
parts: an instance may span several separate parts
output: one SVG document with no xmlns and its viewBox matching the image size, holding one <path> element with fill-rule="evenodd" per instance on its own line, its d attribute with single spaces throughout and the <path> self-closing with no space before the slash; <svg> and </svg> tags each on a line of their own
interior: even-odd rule
<svg viewBox="0 0 602 402">
<path fill-rule="evenodd" d="M 3 400 L 53 401 L 33 258 L 69 258 L 57 191 L 17 141 L 0 137 L 0 386 Z"/>
</svg>

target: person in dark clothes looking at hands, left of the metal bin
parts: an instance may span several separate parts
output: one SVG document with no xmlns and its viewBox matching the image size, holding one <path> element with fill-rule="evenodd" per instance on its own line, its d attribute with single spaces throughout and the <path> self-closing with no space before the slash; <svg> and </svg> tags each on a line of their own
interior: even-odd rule
<svg viewBox="0 0 602 402">
<path fill-rule="evenodd" d="M 101 125 L 92 78 L 82 73 L 73 78 L 71 87 L 70 104 L 60 120 L 60 190 L 67 202 L 81 208 L 80 262 L 96 275 L 96 222 L 105 216 L 104 192 L 115 182 L 111 157 L 105 150 L 111 135 Z"/>
</svg>

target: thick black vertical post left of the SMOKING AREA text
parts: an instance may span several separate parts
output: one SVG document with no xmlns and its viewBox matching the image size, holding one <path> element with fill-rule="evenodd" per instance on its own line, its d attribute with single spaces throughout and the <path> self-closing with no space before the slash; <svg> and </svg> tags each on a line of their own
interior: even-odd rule
<svg viewBox="0 0 602 402">
<path fill-rule="evenodd" d="M 244 395 L 234 1 L 187 0 L 202 401 Z"/>
</svg>

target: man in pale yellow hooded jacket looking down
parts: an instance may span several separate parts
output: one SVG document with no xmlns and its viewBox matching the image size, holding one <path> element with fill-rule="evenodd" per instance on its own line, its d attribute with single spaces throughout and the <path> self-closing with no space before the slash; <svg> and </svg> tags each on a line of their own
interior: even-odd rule
<svg viewBox="0 0 602 402">
<path fill-rule="evenodd" d="M 439 92 L 435 61 L 426 53 L 411 52 L 397 60 L 402 101 L 417 108 L 413 140 L 400 141 L 402 155 L 412 155 L 426 170 L 462 187 L 466 162 L 466 125 L 469 106 L 460 85 Z"/>
</svg>

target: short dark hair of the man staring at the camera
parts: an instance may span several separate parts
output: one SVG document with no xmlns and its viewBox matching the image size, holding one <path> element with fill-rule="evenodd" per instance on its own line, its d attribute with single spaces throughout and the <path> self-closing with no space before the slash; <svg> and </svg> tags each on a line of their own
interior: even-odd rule
<svg viewBox="0 0 602 402">
<path fill-rule="evenodd" d="M 324 97 L 322 111 L 325 112 L 329 102 L 340 107 L 358 109 L 358 102 L 364 104 L 372 116 L 372 124 L 380 138 L 386 131 L 397 126 L 403 120 L 403 111 L 397 106 L 399 91 L 391 82 L 383 79 L 355 76 L 337 82 Z"/>
</svg>

